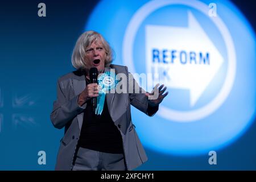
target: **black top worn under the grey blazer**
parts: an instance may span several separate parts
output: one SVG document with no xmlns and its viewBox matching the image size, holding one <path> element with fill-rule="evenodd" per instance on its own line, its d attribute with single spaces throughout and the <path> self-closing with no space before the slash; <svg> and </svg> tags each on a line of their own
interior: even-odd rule
<svg viewBox="0 0 256 182">
<path fill-rule="evenodd" d="M 86 84 L 89 84 L 87 79 Z M 113 154 L 123 153 L 122 137 L 110 117 L 106 98 L 101 115 L 93 113 L 91 102 L 87 102 L 79 146 Z"/>
</svg>

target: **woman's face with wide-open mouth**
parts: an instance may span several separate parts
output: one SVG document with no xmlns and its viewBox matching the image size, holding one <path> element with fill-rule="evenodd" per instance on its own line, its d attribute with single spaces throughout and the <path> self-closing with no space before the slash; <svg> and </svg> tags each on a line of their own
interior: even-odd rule
<svg viewBox="0 0 256 182">
<path fill-rule="evenodd" d="M 93 41 L 85 48 L 86 69 L 97 68 L 98 73 L 103 73 L 105 68 L 106 51 L 100 41 Z"/>
</svg>

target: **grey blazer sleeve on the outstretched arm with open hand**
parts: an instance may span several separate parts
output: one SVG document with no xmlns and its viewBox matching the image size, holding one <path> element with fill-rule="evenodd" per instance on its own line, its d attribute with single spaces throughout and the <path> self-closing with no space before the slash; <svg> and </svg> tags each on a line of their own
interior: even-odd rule
<svg viewBox="0 0 256 182">
<path fill-rule="evenodd" d="M 133 92 L 129 93 L 130 103 L 143 113 L 153 116 L 156 111 L 158 111 L 159 106 L 151 107 L 148 105 L 148 98 L 145 95 L 146 91 L 138 85 L 138 82 L 134 79 L 133 75 L 129 73 L 128 68 L 126 68 L 126 72 L 129 78 L 128 83 L 133 83 Z M 128 85 L 130 86 L 130 85 Z M 139 93 L 135 93 L 135 88 L 139 88 Z"/>
</svg>

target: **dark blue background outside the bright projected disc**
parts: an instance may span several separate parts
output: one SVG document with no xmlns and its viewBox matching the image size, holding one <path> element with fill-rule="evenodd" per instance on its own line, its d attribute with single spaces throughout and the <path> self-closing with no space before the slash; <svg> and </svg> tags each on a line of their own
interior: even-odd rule
<svg viewBox="0 0 256 182">
<path fill-rule="evenodd" d="M 38 16 L 40 2 L 46 3 L 46 17 Z M 63 130 L 55 129 L 49 119 L 52 102 L 56 99 L 56 81 L 61 75 L 74 70 L 71 64 L 73 46 L 97 2 L 1 2 L 0 98 L 3 106 L 0 102 L 0 170 L 54 169 L 59 140 L 63 136 Z M 255 2 L 233 2 L 255 31 Z M 35 104 L 27 102 L 22 107 L 14 107 L 14 97 L 28 94 Z M 15 124 L 13 117 L 17 114 L 34 118 L 35 123 Z M 46 165 L 38 164 L 40 150 L 46 151 Z M 208 155 L 163 155 L 147 148 L 146 152 L 149 160 L 138 169 L 255 170 L 256 123 L 235 143 L 217 151 L 216 166 L 209 165 Z"/>
</svg>

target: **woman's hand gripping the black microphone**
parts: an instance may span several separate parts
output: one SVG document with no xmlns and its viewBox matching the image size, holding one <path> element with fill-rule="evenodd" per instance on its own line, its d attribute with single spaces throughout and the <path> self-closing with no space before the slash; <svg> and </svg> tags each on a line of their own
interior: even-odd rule
<svg viewBox="0 0 256 182">
<path fill-rule="evenodd" d="M 84 103 L 92 97 L 98 97 L 99 90 L 99 86 L 96 83 L 86 85 L 85 89 L 79 94 L 77 101 L 79 106 L 84 105 Z"/>
</svg>

